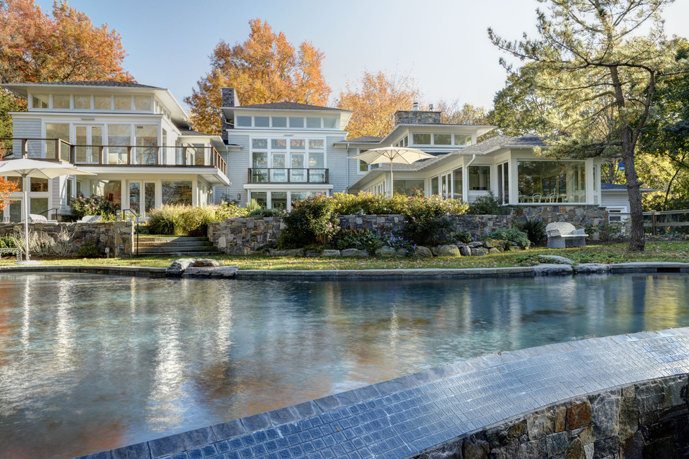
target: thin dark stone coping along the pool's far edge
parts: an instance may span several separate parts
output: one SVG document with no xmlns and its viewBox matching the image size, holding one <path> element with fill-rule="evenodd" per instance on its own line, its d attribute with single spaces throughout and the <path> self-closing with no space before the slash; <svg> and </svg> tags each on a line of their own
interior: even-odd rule
<svg viewBox="0 0 689 459">
<path fill-rule="evenodd" d="M 166 268 L 151 266 L 91 266 L 91 265 L 31 265 L 0 266 L 0 273 L 87 273 L 117 274 L 143 277 L 166 277 Z M 630 261 L 618 264 L 539 264 L 536 266 L 513 266 L 507 268 L 404 268 L 404 269 L 342 269 L 342 270 L 266 270 L 240 269 L 236 279 L 287 279 L 319 278 L 347 279 L 360 277 L 390 279 L 428 279 L 476 277 L 534 277 L 539 275 L 581 275 L 602 273 L 689 273 L 689 263 L 677 261 Z M 204 276 L 208 277 L 208 276 Z"/>
</svg>

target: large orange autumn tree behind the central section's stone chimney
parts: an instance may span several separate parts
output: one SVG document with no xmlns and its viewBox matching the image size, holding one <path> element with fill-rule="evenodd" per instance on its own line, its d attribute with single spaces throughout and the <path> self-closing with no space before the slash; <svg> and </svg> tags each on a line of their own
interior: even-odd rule
<svg viewBox="0 0 689 459">
<path fill-rule="evenodd" d="M 221 88 L 235 88 L 242 105 L 298 102 L 326 105 L 330 86 L 321 72 L 322 51 L 304 41 L 299 49 L 283 32 L 275 33 L 261 19 L 249 21 L 251 33 L 234 46 L 219 42 L 211 70 L 196 82 L 184 102 L 191 108 L 190 122 L 198 131 L 221 131 Z"/>
</svg>

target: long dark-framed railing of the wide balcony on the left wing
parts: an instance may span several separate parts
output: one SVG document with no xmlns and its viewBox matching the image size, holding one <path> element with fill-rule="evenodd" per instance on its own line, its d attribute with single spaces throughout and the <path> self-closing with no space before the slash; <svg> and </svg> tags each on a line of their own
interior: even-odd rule
<svg viewBox="0 0 689 459">
<path fill-rule="evenodd" d="M 0 138 L 0 154 L 10 152 L 84 166 L 205 166 L 228 174 L 227 163 L 214 147 L 72 145 L 58 138 Z"/>
</svg>

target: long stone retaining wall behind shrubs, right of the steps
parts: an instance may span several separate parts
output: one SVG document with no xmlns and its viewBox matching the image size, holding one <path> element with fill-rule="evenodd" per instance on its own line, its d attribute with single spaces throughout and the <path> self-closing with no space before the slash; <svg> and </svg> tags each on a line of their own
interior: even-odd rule
<svg viewBox="0 0 689 459">
<path fill-rule="evenodd" d="M 404 216 L 390 215 L 341 215 L 340 227 L 345 230 L 369 230 L 379 235 L 401 235 L 404 232 Z M 453 240 L 458 233 L 466 232 L 472 239 L 491 234 L 500 228 L 512 227 L 517 218 L 538 218 L 546 223 L 567 221 L 577 227 L 601 225 L 608 213 L 598 206 L 530 206 L 518 207 L 510 215 L 458 215 L 454 232 L 441 236 Z M 275 243 L 283 228 L 282 218 L 234 218 L 208 225 L 208 239 L 221 252 L 231 255 L 249 255 L 262 245 Z"/>
</svg>

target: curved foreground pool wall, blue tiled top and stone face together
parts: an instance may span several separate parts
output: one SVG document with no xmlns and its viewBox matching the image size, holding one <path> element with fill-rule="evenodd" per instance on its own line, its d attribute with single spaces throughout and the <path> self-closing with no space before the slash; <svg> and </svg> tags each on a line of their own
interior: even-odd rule
<svg viewBox="0 0 689 459">
<path fill-rule="evenodd" d="M 688 378 L 689 328 L 569 341 L 484 355 L 97 457 L 687 457 Z"/>
</svg>

